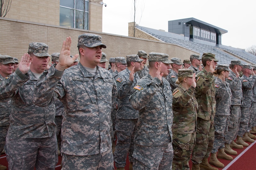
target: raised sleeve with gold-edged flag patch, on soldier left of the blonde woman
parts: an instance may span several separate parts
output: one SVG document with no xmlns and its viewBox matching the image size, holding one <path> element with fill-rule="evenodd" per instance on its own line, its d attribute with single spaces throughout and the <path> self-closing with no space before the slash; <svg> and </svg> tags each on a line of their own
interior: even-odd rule
<svg viewBox="0 0 256 170">
<path fill-rule="evenodd" d="M 158 78 L 153 78 L 150 83 L 139 81 L 133 87 L 133 93 L 130 96 L 132 107 L 136 110 L 141 110 L 146 107 L 148 102 L 153 98 L 158 91 L 161 81 Z"/>
</svg>

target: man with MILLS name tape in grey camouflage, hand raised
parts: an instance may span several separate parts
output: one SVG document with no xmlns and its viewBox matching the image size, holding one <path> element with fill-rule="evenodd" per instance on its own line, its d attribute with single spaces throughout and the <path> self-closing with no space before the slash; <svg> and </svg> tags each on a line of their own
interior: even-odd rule
<svg viewBox="0 0 256 170">
<path fill-rule="evenodd" d="M 62 169 L 112 170 L 113 154 L 110 130 L 111 108 L 117 89 L 110 72 L 98 65 L 101 60 L 101 36 L 82 34 L 78 37 L 80 62 L 65 70 L 78 54 L 70 58 L 71 38 L 62 45 L 59 63 L 53 64 L 36 84 L 33 102 L 46 106 L 60 99 L 62 115 Z M 64 71 L 65 70 L 65 71 Z"/>
</svg>

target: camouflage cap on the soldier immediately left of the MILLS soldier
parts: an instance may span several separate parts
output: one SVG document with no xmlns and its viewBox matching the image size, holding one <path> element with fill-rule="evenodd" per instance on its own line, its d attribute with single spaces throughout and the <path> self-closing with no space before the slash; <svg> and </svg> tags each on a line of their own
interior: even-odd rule
<svg viewBox="0 0 256 170">
<path fill-rule="evenodd" d="M 48 45 L 44 43 L 29 43 L 29 52 L 33 53 L 37 57 L 51 57 L 51 55 L 48 54 Z"/>
</svg>

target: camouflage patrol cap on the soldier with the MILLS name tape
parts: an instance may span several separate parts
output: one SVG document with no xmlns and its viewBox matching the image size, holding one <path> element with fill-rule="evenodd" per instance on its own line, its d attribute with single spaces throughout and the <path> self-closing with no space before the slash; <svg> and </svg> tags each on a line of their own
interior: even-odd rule
<svg viewBox="0 0 256 170">
<path fill-rule="evenodd" d="M 101 36 L 95 35 L 95 34 L 82 34 L 78 36 L 78 44 L 85 45 L 86 47 L 93 48 L 97 46 L 101 46 L 102 48 L 106 49 L 107 46 L 102 44 L 101 42 Z"/>
</svg>

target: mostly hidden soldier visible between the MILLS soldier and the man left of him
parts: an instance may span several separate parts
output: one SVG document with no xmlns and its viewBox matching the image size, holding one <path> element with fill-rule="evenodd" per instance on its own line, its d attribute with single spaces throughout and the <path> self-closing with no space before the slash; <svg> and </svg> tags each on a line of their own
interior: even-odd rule
<svg viewBox="0 0 256 170">
<path fill-rule="evenodd" d="M 60 53 L 52 53 L 52 64 L 59 63 Z M 57 137 L 57 144 L 58 144 L 58 155 L 61 155 L 61 124 L 62 124 L 62 114 L 64 113 L 64 106 L 61 100 L 55 99 L 55 119 L 54 122 L 56 124 L 56 137 Z"/>
</svg>

